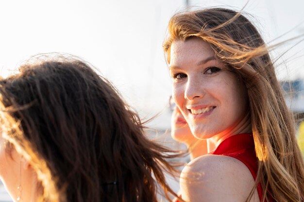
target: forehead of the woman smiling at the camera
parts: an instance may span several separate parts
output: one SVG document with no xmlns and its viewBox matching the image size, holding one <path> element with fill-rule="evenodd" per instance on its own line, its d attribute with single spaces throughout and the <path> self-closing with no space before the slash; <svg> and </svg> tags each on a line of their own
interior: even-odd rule
<svg viewBox="0 0 304 202">
<path fill-rule="evenodd" d="M 209 43 L 200 38 L 190 38 L 185 41 L 173 41 L 170 50 L 170 65 L 183 62 L 200 62 L 214 57 L 215 53 Z"/>
</svg>

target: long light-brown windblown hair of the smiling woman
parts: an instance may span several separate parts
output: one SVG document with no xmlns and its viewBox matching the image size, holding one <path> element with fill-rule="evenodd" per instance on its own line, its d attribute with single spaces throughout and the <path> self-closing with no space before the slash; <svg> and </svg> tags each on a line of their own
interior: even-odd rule
<svg viewBox="0 0 304 202">
<path fill-rule="evenodd" d="M 262 201 L 271 195 L 278 202 L 304 202 L 304 163 L 293 116 L 284 101 L 269 48 L 253 24 L 240 12 L 210 8 L 177 13 L 168 30 L 163 45 L 168 63 L 173 41 L 198 37 L 208 42 L 216 58 L 246 85 L 259 159 L 255 187 L 261 183 Z"/>
</svg>

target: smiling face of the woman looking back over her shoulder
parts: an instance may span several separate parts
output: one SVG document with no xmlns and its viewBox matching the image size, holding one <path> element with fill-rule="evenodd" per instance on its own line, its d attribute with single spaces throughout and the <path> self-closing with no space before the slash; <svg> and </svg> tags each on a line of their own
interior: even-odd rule
<svg viewBox="0 0 304 202">
<path fill-rule="evenodd" d="M 250 132 L 245 85 L 199 38 L 174 41 L 170 51 L 173 99 L 191 132 L 215 141 Z"/>
</svg>

